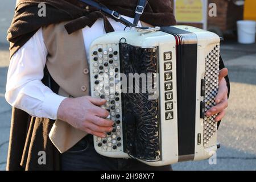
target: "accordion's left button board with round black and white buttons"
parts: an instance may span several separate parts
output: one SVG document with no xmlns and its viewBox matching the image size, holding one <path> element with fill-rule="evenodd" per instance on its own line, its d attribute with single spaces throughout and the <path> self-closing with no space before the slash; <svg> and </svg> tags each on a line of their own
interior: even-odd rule
<svg viewBox="0 0 256 182">
<path fill-rule="evenodd" d="M 102 151 L 122 152 L 122 103 L 121 88 L 118 78 L 120 73 L 118 44 L 100 44 L 93 47 L 92 61 L 92 96 L 105 99 L 103 109 L 109 111 L 108 119 L 114 121 L 113 130 L 106 138 L 94 138 Z"/>
</svg>

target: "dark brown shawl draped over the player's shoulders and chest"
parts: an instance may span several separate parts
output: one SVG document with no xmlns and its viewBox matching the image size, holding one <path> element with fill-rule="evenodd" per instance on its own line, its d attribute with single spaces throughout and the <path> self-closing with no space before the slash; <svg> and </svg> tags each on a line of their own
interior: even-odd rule
<svg viewBox="0 0 256 182">
<path fill-rule="evenodd" d="M 38 16 L 38 3 L 46 4 L 46 16 Z M 119 14 L 134 17 L 137 0 L 98 0 L 98 2 L 118 11 Z M 112 31 L 112 26 L 108 23 L 102 13 L 93 7 L 86 9 L 86 4 L 76 0 L 19 0 L 15 9 L 13 22 L 8 30 L 7 40 L 10 42 L 10 57 L 14 55 L 34 34 L 43 26 L 52 23 L 59 23 L 68 20 L 75 20 L 67 25 L 67 30 L 71 34 L 85 26 L 92 26 L 98 18 L 104 18 L 107 32 Z M 84 17 L 85 18 L 81 18 Z M 87 17 L 87 18 L 86 18 Z M 176 20 L 171 8 L 170 0 L 148 0 L 147 6 L 141 16 L 143 22 L 153 26 L 171 26 L 176 24 Z M 72 26 L 71 26 L 72 25 Z"/>
</svg>

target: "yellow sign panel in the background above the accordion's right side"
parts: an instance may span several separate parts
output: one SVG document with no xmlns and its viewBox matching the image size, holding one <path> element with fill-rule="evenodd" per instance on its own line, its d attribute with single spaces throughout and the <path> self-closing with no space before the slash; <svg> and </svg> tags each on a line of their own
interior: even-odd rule
<svg viewBox="0 0 256 182">
<path fill-rule="evenodd" d="M 202 0 L 176 0 L 175 17 L 177 22 L 203 22 L 204 4 Z"/>
</svg>

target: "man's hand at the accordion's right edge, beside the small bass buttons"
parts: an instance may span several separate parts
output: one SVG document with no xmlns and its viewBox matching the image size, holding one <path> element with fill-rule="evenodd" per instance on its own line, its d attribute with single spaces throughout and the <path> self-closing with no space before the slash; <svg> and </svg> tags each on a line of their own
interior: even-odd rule
<svg viewBox="0 0 256 182">
<path fill-rule="evenodd" d="M 215 121 L 221 121 L 225 115 L 225 109 L 228 107 L 228 86 L 226 86 L 225 77 L 228 75 L 228 69 L 223 68 L 218 76 L 218 94 L 215 98 L 216 106 L 207 111 L 207 116 L 218 114 Z"/>
</svg>

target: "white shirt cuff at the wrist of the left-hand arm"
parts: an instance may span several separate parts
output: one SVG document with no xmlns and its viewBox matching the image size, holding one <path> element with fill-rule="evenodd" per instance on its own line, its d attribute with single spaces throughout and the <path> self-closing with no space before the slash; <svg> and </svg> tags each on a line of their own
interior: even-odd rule
<svg viewBox="0 0 256 182">
<path fill-rule="evenodd" d="M 42 110 L 49 119 L 57 119 L 57 111 L 61 102 L 67 97 L 59 96 L 55 93 L 46 94 L 42 105 Z"/>
</svg>

